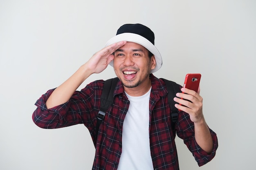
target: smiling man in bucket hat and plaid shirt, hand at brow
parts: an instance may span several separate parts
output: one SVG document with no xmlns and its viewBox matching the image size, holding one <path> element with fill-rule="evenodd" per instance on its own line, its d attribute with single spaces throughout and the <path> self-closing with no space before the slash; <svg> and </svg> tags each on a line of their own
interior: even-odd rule
<svg viewBox="0 0 256 170">
<path fill-rule="evenodd" d="M 178 170 L 176 133 L 199 166 L 209 162 L 215 156 L 218 141 L 204 120 L 202 97 L 199 91 L 181 88 L 184 93 L 177 93 L 174 101 L 184 106 L 175 105 L 182 111 L 173 126 L 164 81 L 152 74 L 162 66 L 154 39 L 154 33 L 144 25 L 121 26 L 105 48 L 37 100 L 35 124 L 41 128 L 84 124 L 96 148 L 93 170 Z M 108 64 L 119 81 L 114 102 L 96 132 L 105 81 L 92 82 L 81 91 L 76 89 Z"/>
</svg>

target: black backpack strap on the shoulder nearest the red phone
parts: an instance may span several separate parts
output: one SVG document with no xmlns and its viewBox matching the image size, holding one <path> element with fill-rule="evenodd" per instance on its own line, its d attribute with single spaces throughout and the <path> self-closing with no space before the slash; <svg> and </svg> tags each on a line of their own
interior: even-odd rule
<svg viewBox="0 0 256 170">
<path fill-rule="evenodd" d="M 163 79 L 165 84 L 166 84 L 166 88 L 168 91 L 168 104 L 171 108 L 171 119 L 173 121 L 173 123 L 175 123 L 178 120 L 178 109 L 174 106 L 175 104 L 178 104 L 177 102 L 174 102 L 173 98 L 176 96 L 176 93 L 180 93 L 180 85 L 172 82 L 170 80 L 167 79 Z"/>
</svg>

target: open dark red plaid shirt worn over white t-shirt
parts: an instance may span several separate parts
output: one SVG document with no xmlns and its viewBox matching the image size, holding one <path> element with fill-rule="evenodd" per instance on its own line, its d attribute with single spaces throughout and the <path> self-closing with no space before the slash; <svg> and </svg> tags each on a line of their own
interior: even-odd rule
<svg viewBox="0 0 256 170">
<path fill-rule="evenodd" d="M 198 146 L 194 138 L 194 125 L 185 112 L 179 112 L 178 121 L 173 129 L 171 109 L 168 105 L 167 90 L 164 82 L 150 75 L 152 90 L 149 104 L 150 151 L 155 170 L 179 170 L 175 135 L 184 140 L 199 166 L 211 161 L 218 147 L 216 133 L 211 129 L 213 152 L 207 154 Z M 122 152 L 122 127 L 129 108 L 129 101 L 124 87 L 119 81 L 114 91 L 114 102 L 107 110 L 95 136 L 97 114 L 100 109 L 100 97 L 103 80 L 88 84 L 81 91 L 76 91 L 65 104 L 47 109 L 45 102 L 54 89 L 47 91 L 36 101 L 33 121 L 41 128 L 62 128 L 75 124 L 84 124 L 90 131 L 96 154 L 93 170 L 117 170 Z M 96 141 L 97 139 L 97 141 Z"/>
</svg>

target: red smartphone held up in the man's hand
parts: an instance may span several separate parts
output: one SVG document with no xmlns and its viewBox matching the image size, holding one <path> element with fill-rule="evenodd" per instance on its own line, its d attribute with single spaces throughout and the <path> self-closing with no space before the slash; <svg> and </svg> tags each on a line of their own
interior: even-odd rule
<svg viewBox="0 0 256 170">
<path fill-rule="evenodd" d="M 186 74 L 183 87 L 184 88 L 188 88 L 190 90 L 193 90 L 195 92 L 198 92 L 198 87 L 199 87 L 200 79 L 201 79 L 201 74 L 200 73 Z M 181 99 L 183 99 L 183 98 L 181 98 Z M 180 109 L 178 109 L 178 110 L 180 111 Z"/>
</svg>

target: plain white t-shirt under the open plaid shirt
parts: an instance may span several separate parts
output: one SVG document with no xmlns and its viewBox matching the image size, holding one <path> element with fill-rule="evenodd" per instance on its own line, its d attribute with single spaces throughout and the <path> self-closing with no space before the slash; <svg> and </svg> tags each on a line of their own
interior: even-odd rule
<svg viewBox="0 0 256 170">
<path fill-rule="evenodd" d="M 130 106 L 123 125 L 122 153 L 117 170 L 153 170 L 149 144 L 150 90 L 142 96 L 126 93 Z"/>
</svg>

